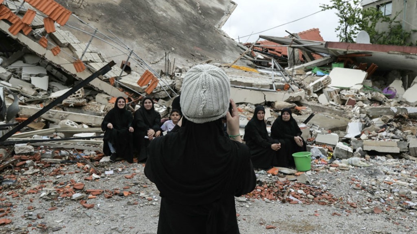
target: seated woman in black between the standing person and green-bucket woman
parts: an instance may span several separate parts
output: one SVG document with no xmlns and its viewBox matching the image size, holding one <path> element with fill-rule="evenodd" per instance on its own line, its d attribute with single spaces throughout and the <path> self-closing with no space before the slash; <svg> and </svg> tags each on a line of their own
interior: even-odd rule
<svg viewBox="0 0 417 234">
<path fill-rule="evenodd" d="M 284 144 L 269 137 L 265 124 L 265 108 L 257 106 L 254 116 L 245 127 L 244 140 L 251 151 L 251 161 L 255 168 L 286 166 Z"/>
</svg>

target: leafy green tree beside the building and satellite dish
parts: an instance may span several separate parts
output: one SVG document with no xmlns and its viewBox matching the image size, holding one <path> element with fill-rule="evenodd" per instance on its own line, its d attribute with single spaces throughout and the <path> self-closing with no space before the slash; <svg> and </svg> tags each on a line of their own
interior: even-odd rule
<svg viewBox="0 0 417 234">
<path fill-rule="evenodd" d="M 322 4 L 323 10 L 336 10 L 339 17 L 339 26 L 335 32 L 341 42 L 355 42 L 355 37 L 360 30 L 365 30 L 369 34 L 370 42 L 382 45 L 413 45 L 407 42 L 411 32 L 405 32 L 402 29 L 401 22 L 397 19 L 400 12 L 394 17 L 384 16 L 380 10 L 375 7 L 362 9 L 360 0 L 331 0 L 331 4 Z M 387 30 L 378 32 L 375 27 L 378 23 L 388 25 Z M 414 30 L 415 31 L 415 30 Z"/>
</svg>

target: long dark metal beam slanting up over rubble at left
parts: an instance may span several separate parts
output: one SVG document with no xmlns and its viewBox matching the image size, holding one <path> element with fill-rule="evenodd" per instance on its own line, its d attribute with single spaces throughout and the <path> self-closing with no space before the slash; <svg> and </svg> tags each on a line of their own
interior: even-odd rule
<svg viewBox="0 0 417 234">
<path fill-rule="evenodd" d="M 9 137 L 11 137 L 16 132 L 18 132 L 20 129 L 22 129 L 26 125 L 30 124 L 33 120 L 39 118 L 41 115 L 43 115 L 46 112 L 48 112 L 48 110 L 52 109 L 52 107 L 54 107 L 54 106 L 58 105 L 59 103 L 61 103 L 65 98 L 67 98 L 70 95 L 72 95 L 75 91 L 79 90 L 81 87 L 84 87 L 85 85 L 87 85 L 88 83 L 90 83 L 92 80 L 94 80 L 99 75 L 105 75 L 108 71 L 111 70 L 111 67 L 113 67 L 115 64 L 116 63 L 114 61 L 109 62 L 104 67 L 100 68 L 100 70 L 98 70 L 97 72 L 94 72 L 92 75 L 90 75 L 89 77 L 87 77 L 85 80 L 83 80 L 80 83 L 78 83 L 78 85 L 75 85 L 72 89 L 68 90 L 68 92 L 66 92 L 62 96 L 58 97 L 53 102 L 49 103 L 47 106 L 43 107 L 40 111 L 36 112 L 35 115 L 32 115 L 31 117 L 29 117 L 28 119 L 26 119 L 25 121 L 23 121 L 22 123 L 20 123 L 18 126 L 16 126 L 15 128 L 11 129 L 9 132 L 6 132 L 6 134 L 4 134 L 2 137 L 0 137 L 0 144 L 2 142 L 4 142 L 6 139 L 8 139 Z"/>
</svg>

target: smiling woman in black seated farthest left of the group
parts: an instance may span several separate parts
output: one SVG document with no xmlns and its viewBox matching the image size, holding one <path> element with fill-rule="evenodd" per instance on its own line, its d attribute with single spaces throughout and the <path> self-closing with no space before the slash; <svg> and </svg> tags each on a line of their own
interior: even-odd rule
<svg viewBox="0 0 417 234">
<path fill-rule="evenodd" d="M 126 110 L 126 100 L 118 97 L 111 109 L 101 123 L 104 132 L 103 152 L 111 155 L 110 160 L 114 162 L 117 157 L 123 157 L 128 162 L 133 162 L 132 154 L 132 113 Z"/>
</svg>

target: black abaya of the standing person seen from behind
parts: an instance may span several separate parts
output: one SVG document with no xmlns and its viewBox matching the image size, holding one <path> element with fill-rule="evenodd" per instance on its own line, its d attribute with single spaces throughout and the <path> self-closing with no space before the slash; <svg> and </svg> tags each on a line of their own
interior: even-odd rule
<svg viewBox="0 0 417 234">
<path fill-rule="evenodd" d="M 225 137 L 220 119 L 183 119 L 178 132 L 154 139 L 145 175 L 162 197 L 158 234 L 238 234 L 234 196 L 256 184 L 248 147 Z"/>
</svg>

